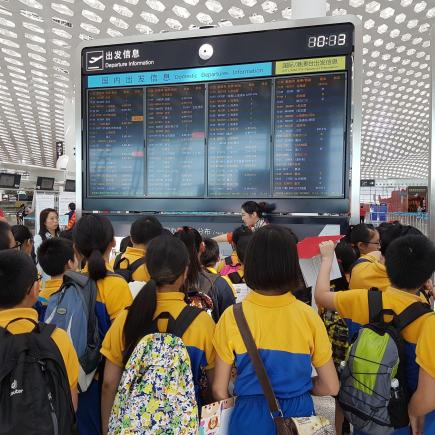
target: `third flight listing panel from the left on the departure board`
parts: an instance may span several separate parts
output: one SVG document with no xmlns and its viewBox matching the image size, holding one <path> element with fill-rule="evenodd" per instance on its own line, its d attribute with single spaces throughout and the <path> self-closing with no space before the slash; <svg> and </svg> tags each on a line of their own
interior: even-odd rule
<svg viewBox="0 0 435 435">
<path fill-rule="evenodd" d="M 208 87 L 208 196 L 270 195 L 271 80 Z"/>
</svg>

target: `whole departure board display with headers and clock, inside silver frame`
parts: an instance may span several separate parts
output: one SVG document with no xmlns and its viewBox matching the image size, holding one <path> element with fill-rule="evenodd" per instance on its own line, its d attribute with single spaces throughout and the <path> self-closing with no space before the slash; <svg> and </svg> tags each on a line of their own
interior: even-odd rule
<svg viewBox="0 0 435 435">
<path fill-rule="evenodd" d="M 298 58 L 281 44 L 267 59 L 260 45 L 250 62 L 223 56 L 186 68 L 164 58 L 158 69 L 144 68 L 137 44 L 87 49 L 84 198 L 133 200 L 133 210 L 197 199 L 210 211 L 217 200 L 346 198 L 352 26 L 323 27 L 304 30 Z"/>
</svg>

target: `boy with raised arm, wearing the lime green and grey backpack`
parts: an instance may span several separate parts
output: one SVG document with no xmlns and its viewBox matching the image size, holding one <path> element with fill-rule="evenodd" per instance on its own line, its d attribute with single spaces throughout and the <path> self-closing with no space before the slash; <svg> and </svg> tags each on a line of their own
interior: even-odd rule
<svg viewBox="0 0 435 435">
<path fill-rule="evenodd" d="M 369 322 L 369 290 L 351 290 L 332 293 L 329 276 L 334 255 L 334 244 L 323 242 L 320 245 L 322 263 L 316 283 L 315 298 L 319 306 L 336 310 L 349 327 L 352 339 L 362 325 Z M 435 247 L 425 236 L 403 236 L 389 244 L 385 253 L 385 266 L 392 287 L 382 292 L 382 306 L 396 315 L 401 314 L 414 302 L 422 302 L 418 295 L 423 286 L 432 286 L 430 277 L 435 270 Z M 419 367 L 416 362 L 416 344 L 425 320 L 425 314 L 402 330 L 405 342 L 403 361 L 406 388 L 412 394 L 417 387 Z M 386 319 L 388 321 L 388 319 Z M 408 434 L 409 428 L 397 429 L 394 434 Z"/>
</svg>

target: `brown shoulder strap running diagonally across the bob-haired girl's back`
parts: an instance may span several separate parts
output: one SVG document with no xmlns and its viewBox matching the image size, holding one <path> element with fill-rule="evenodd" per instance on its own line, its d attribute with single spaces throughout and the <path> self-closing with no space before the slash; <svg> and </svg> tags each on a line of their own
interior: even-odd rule
<svg viewBox="0 0 435 435">
<path fill-rule="evenodd" d="M 254 366 L 258 381 L 260 382 L 261 388 L 263 389 L 263 393 L 269 407 L 270 416 L 272 417 L 273 421 L 277 426 L 277 433 L 289 433 L 285 431 L 286 425 L 282 410 L 275 396 L 275 393 L 273 392 L 272 384 L 270 383 L 270 379 L 267 376 L 263 360 L 261 359 L 260 353 L 258 352 L 251 330 L 249 329 L 249 325 L 246 321 L 245 314 L 243 313 L 241 303 L 233 305 L 233 313 L 237 323 L 237 327 L 240 331 L 240 335 L 242 336 L 243 343 L 246 346 L 246 350 L 248 351 L 249 358 L 251 359 L 251 363 Z"/>
</svg>

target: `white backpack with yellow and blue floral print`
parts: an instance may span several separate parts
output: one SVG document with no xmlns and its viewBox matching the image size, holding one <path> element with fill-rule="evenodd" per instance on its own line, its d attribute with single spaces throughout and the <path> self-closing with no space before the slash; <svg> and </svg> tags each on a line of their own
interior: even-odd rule
<svg viewBox="0 0 435 435">
<path fill-rule="evenodd" d="M 161 313 L 131 354 L 121 378 L 108 433 L 198 433 L 189 354 L 181 337 L 202 310 L 187 306 L 176 320 Z M 166 333 L 157 332 L 157 321 L 168 319 Z"/>
</svg>

